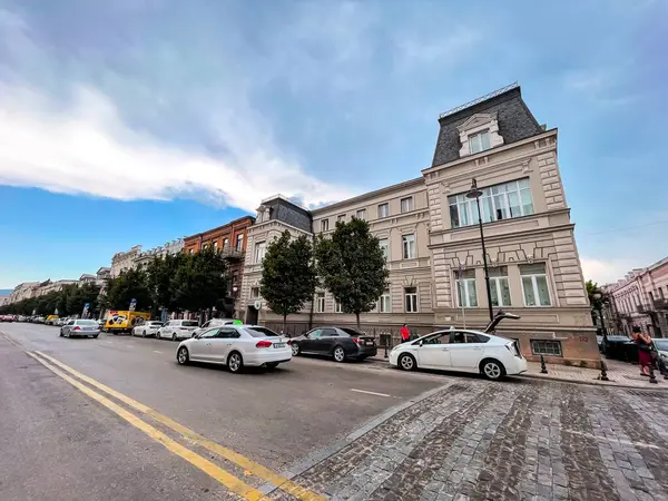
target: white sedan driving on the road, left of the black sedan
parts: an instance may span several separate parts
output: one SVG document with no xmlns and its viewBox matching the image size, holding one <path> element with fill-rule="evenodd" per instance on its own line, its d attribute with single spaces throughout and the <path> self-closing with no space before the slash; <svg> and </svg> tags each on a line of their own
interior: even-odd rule
<svg viewBox="0 0 668 501">
<path fill-rule="evenodd" d="M 289 340 L 257 325 L 224 325 L 181 341 L 176 350 L 180 365 L 207 362 L 227 365 L 237 373 L 244 366 L 275 369 L 292 360 Z"/>
</svg>

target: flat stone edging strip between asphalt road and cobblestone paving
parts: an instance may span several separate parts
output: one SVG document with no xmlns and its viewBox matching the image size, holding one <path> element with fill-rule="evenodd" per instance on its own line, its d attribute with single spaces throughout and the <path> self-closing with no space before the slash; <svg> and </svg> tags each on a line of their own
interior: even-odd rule
<svg viewBox="0 0 668 501">
<path fill-rule="evenodd" d="M 452 386 L 454 383 L 450 382 L 448 384 L 443 384 L 441 386 L 436 386 L 432 390 L 429 390 L 406 402 L 403 402 L 401 404 L 394 405 L 393 407 L 387 409 L 386 411 L 384 411 L 383 413 L 381 413 L 380 415 L 372 418 L 370 421 L 367 421 L 362 428 L 355 430 L 354 432 L 350 433 L 348 435 L 346 435 L 345 438 L 335 441 L 334 443 L 332 443 L 331 445 L 326 445 L 323 449 L 320 449 L 315 452 L 312 452 L 311 454 L 308 454 L 306 456 L 305 460 L 301 460 L 299 462 L 293 464 L 289 469 L 283 471 L 281 473 L 282 477 L 288 479 L 288 480 L 294 480 L 296 477 L 299 477 L 302 473 L 311 470 L 313 466 L 315 466 L 318 463 L 322 463 L 323 461 L 327 460 L 328 458 L 331 458 L 332 455 L 336 454 L 338 451 L 341 451 L 342 449 L 346 448 L 347 445 L 350 445 L 351 443 L 353 443 L 354 441 L 356 441 L 357 439 L 360 439 L 361 436 L 365 435 L 366 433 L 369 433 L 370 431 L 372 431 L 373 429 L 380 426 L 381 424 L 383 424 L 385 421 L 387 421 L 389 419 L 393 418 L 394 415 L 399 414 L 401 411 L 404 411 L 405 409 L 409 409 L 420 402 L 422 402 L 423 400 L 429 399 L 430 396 L 435 395 L 436 393 Z M 265 495 L 271 494 L 272 492 L 278 490 L 278 488 L 276 485 L 274 485 L 271 482 L 265 482 L 262 487 L 258 488 L 259 492 L 262 492 Z"/>
</svg>

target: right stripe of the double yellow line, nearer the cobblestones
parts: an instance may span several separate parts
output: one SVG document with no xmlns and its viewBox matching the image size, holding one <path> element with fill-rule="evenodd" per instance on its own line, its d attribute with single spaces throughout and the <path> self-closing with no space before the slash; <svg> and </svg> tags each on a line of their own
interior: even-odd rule
<svg viewBox="0 0 668 501">
<path fill-rule="evenodd" d="M 79 377 L 80 380 L 86 381 L 87 383 L 91 384 L 92 386 L 96 386 L 97 389 L 102 390 L 104 392 L 108 393 L 109 395 L 126 403 L 130 407 L 132 407 L 146 415 L 149 415 L 154 420 L 156 420 L 159 423 L 164 424 L 165 426 L 174 430 L 175 432 L 180 433 L 185 439 L 189 440 L 190 442 L 194 442 L 212 452 L 215 452 L 216 454 L 237 464 L 238 466 L 243 468 L 244 470 L 249 471 L 250 473 L 261 478 L 265 482 L 271 482 L 272 484 L 276 485 L 282 491 L 287 492 L 288 494 L 294 495 L 295 498 L 301 499 L 302 501 L 325 501 L 326 498 L 323 498 L 323 497 L 316 494 L 315 492 L 304 489 L 303 487 L 296 484 L 292 480 L 283 477 L 283 475 L 279 475 L 277 473 L 274 473 L 273 471 L 268 470 L 267 468 L 263 466 L 262 464 L 256 463 L 255 461 L 239 454 L 238 452 L 233 451 L 232 449 L 228 449 L 226 446 L 223 446 L 216 442 L 213 442 L 213 441 L 204 438 L 199 433 L 196 433 L 193 430 L 184 426 L 183 424 L 177 423 L 176 421 L 171 420 L 170 418 L 167 418 L 166 415 L 163 415 L 159 412 L 154 411 L 149 406 L 144 405 L 143 403 L 139 403 L 136 400 L 132 400 L 129 396 L 126 396 L 122 393 L 119 393 L 116 390 L 112 390 L 109 386 L 107 386 L 102 383 L 99 383 L 96 380 L 94 380 L 85 374 L 81 374 L 80 372 L 70 367 L 69 365 L 66 365 L 62 362 L 59 362 L 56 358 L 53 358 L 45 353 L 41 353 L 41 352 L 35 352 L 35 353 L 39 354 L 40 356 L 43 356 L 46 360 L 52 362 L 53 364 L 58 365 L 59 367 L 63 369 L 65 371 L 69 372 L 70 374 Z"/>
</svg>

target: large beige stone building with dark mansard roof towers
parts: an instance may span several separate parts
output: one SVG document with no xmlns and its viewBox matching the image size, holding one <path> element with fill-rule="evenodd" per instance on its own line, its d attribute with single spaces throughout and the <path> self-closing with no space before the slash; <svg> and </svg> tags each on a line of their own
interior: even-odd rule
<svg viewBox="0 0 668 501">
<path fill-rule="evenodd" d="M 543 355 L 598 366 L 596 330 L 557 161 L 557 129 L 536 120 L 517 85 L 442 114 L 439 124 L 433 163 L 418 179 L 312 212 L 284 197 L 263 202 L 248 232 L 242 288 L 246 321 L 278 324 L 258 295 L 262 256 L 274 237 L 284 229 L 326 234 L 337 219 L 358 217 L 379 237 L 390 272 L 376 308 L 363 315 L 363 328 L 377 333 L 407 323 L 424 334 L 436 327 L 484 327 L 489 313 L 478 206 L 465 196 L 475 179 L 482 190 L 492 305 L 521 316 L 498 332 L 519 340 L 530 360 Z M 338 312 L 328 292 L 317 291 L 289 321 L 304 330 L 354 325 L 353 315 Z"/>
</svg>

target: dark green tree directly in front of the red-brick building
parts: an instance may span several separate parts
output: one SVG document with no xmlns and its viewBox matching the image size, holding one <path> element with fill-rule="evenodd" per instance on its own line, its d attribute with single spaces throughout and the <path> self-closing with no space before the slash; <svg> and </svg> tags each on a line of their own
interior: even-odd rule
<svg viewBox="0 0 668 501">
<path fill-rule="evenodd" d="M 174 278 L 174 305 L 178 310 L 199 312 L 215 306 L 227 295 L 227 265 L 212 248 L 186 254 Z"/>
</svg>

